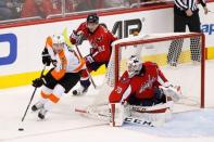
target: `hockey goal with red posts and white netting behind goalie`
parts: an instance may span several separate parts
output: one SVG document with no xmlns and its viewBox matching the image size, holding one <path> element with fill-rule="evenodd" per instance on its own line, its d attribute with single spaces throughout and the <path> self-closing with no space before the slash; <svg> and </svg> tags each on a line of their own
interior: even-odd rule
<svg viewBox="0 0 214 142">
<path fill-rule="evenodd" d="M 119 39 L 113 42 L 105 83 L 96 104 L 108 103 L 111 90 L 127 69 L 130 55 L 142 62 L 155 62 L 166 78 L 181 87 L 182 96 L 177 112 L 204 107 L 204 35 L 197 33 L 151 34 Z M 99 102 L 99 103 L 98 103 Z M 182 107 L 182 108 L 181 108 Z"/>
</svg>

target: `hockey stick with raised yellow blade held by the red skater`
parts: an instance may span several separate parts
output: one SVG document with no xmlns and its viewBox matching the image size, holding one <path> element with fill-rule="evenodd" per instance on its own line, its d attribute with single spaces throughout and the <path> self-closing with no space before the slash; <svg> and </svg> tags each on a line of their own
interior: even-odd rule
<svg viewBox="0 0 214 142">
<path fill-rule="evenodd" d="M 67 38 L 67 28 L 64 28 L 62 35 L 64 36 L 64 39 L 65 39 L 66 44 L 67 44 L 70 48 L 72 48 L 73 46 L 72 46 L 70 39 Z M 80 38 L 83 38 L 83 36 L 81 36 Z M 75 48 L 76 48 L 76 50 L 77 50 L 77 52 L 78 52 L 78 55 L 83 59 L 83 55 L 81 55 L 81 53 L 80 53 L 80 51 L 79 51 L 77 44 L 75 44 Z M 96 83 L 95 83 L 95 81 L 93 81 L 93 79 L 92 79 L 92 76 L 91 76 L 90 73 L 88 72 L 88 68 L 86 68 L 86 70 L 87 70 L 87 73 L 88 73 L 88 76 L 89 76 L 89 78 L 90 78 L 90 81 L 91 81 L 92 86 L 95 87 L 95 89 L 97 89 L 97 86 L 96 86 Z"/>
</svg>

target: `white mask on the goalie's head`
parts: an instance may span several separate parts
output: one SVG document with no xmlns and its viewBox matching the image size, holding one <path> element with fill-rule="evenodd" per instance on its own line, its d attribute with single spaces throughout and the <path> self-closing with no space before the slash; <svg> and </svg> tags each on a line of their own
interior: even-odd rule
<svg viewBox="0 0 214 142">
<path fill-rule="evenodd" d="M 127 62 L 127 66 L 129 77 L 134 77 L 135 75 L 140 73 L 142 63 L 140 62 L 138 56 L 131 55 Z"/>
</svg>

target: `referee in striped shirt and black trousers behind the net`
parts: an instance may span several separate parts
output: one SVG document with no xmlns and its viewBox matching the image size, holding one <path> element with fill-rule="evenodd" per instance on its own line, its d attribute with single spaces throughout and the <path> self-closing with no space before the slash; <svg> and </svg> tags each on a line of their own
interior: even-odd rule
<svg viewBox="0 0 214 142">
<path fill-rule="evenodd" d="M 186 26 L 192 33 L 201 33 L 201 23 L 199 17 L 198 1 L 204 10 L 204 14 L 209 13 L 205 0 L 174 0 L 174 33 L 185 33 Z M 173 40 L 167 54 L 167 63 L 171 66 L 177 66 L 179 55 L 181 53 L 184 39 Z M 200 62 L 200 39 L 190 39 L 191 60 Z"/>
</svg>

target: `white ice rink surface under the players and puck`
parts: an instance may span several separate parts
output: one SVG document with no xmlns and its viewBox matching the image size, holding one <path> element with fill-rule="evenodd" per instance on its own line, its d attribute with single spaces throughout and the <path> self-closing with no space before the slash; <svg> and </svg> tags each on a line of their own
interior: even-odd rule
<svg viewBox="0 0 214 142">
<path fill-rule="evenodd" d="M 178 72 L 178 70 L 174 70 Z M 87 105 L 95 99 L 95 89 L 87 95 L 62 98 L 46 120 L 38 120 L 30 109 L 21 124 L 34 88 L 30 86 L 0 90 L 0 142 L 214 142 L 214 61 L 206 61 L 205 99 L 206 108 L 176 113 L 173 119 L 161 127 L 143 127 L 126 124 L 113 128 L 105 121 L 83 117 L 74 112 L 75 106 Z M 166 75 L 169 74 L 165 73 Z M 178 72 L 179 76 L 187 76 Z M 103 80 L 103 79 L 99 79 Z M 196 80 L 191 81 L 198 81 Z M 191 89 L 189 90 L 191 92 Z M 39 90 L 33 103 L 37 100 Z M 20 127 L 24 131 L 18 131 Z"/>
</svg>

